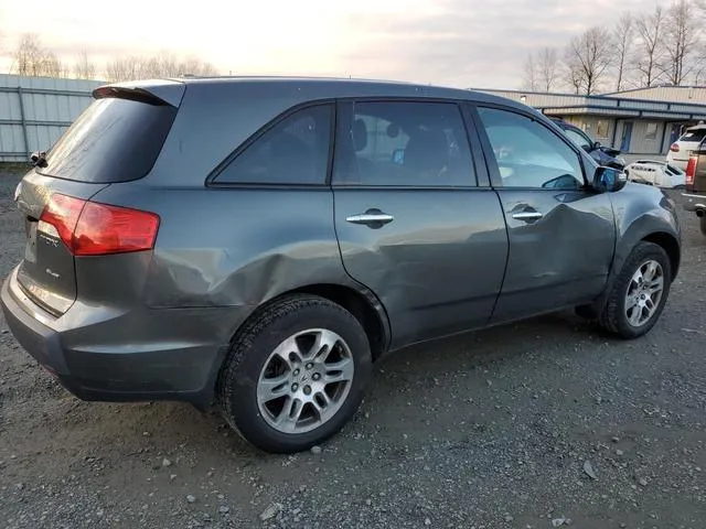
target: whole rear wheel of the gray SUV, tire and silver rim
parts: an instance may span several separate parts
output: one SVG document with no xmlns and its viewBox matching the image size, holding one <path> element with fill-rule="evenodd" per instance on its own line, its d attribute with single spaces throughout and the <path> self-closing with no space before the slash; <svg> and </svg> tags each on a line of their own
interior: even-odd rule
<svg viewBox="0 0 706 529">
<path fill-rule="evenodd" d="M 238 333 L 217 399 L 250 443 L 298 452 L 351 419 L 370 373 L 370 344 L 355 316 L 325 299 L 296 295 L 266 307 Z"/>
</svg>

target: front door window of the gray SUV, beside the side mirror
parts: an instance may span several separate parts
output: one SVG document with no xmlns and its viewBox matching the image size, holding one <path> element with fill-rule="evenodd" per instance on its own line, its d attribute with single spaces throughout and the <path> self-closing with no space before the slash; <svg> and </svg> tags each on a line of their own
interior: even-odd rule
<svg viewBox="0 0 706 529">
<path fill-rule="evenodd" d="M 548 128 L 515 112 L 478 110 L 504 187 L 584 186 L 578 154 Z"/>
</svg>

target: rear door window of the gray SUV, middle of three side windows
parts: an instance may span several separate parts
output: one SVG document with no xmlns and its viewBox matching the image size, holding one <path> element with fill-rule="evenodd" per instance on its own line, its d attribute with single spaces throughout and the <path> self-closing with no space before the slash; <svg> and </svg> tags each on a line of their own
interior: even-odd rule
<svg viewBox="0 0 706 529">
<path fill-rule="evenodd" d="M 335 183 L 477 185 L 458 105 L 376 101 L 342 107 L 333 168 Z"/>
</svg>

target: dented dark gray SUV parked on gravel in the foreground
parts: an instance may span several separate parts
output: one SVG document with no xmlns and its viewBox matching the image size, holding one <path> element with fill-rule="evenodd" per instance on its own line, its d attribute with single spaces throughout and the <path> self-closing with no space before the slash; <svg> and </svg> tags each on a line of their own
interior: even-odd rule
<svg viewBox="0 0 706 529">
<path fill-rule="evenodd" d="M 271 452 L 351 419 L 410 344 L 577 307 L 646 333 L 674 204 L 490 95 L 398 83 L 104 86 L 20 183 L 2 288 L 78 398 L 215 404 Z"/>
</svg>

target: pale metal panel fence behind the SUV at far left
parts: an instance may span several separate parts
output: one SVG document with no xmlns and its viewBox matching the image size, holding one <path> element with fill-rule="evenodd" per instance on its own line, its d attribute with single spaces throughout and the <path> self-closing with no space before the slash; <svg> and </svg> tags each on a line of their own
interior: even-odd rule
<svg viewBox="0 0 706 529">
<path fill-rule="evenodd" d="M 0 162 L 25 162 L 52 147 L 103 84 L 0 75 Z"/>
</svg>

